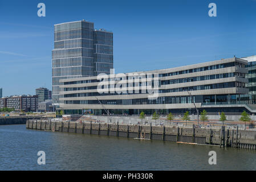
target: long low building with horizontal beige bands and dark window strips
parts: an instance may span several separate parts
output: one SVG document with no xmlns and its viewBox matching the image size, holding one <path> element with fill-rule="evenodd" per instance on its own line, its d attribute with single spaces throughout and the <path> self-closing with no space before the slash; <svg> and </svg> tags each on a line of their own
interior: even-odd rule
<svg viewBox="0 0 256 182">
<path fill-rule="evenodd" d="M 65 114 L 169 112 L 196 114 L 256 113 L 243 98 L 249 94 L 247 60 L 232 57 L 184 67 L 60 80 L 60 108 Z M 114 80 L 114 81 L 113 81 Z"/>
</svg>

